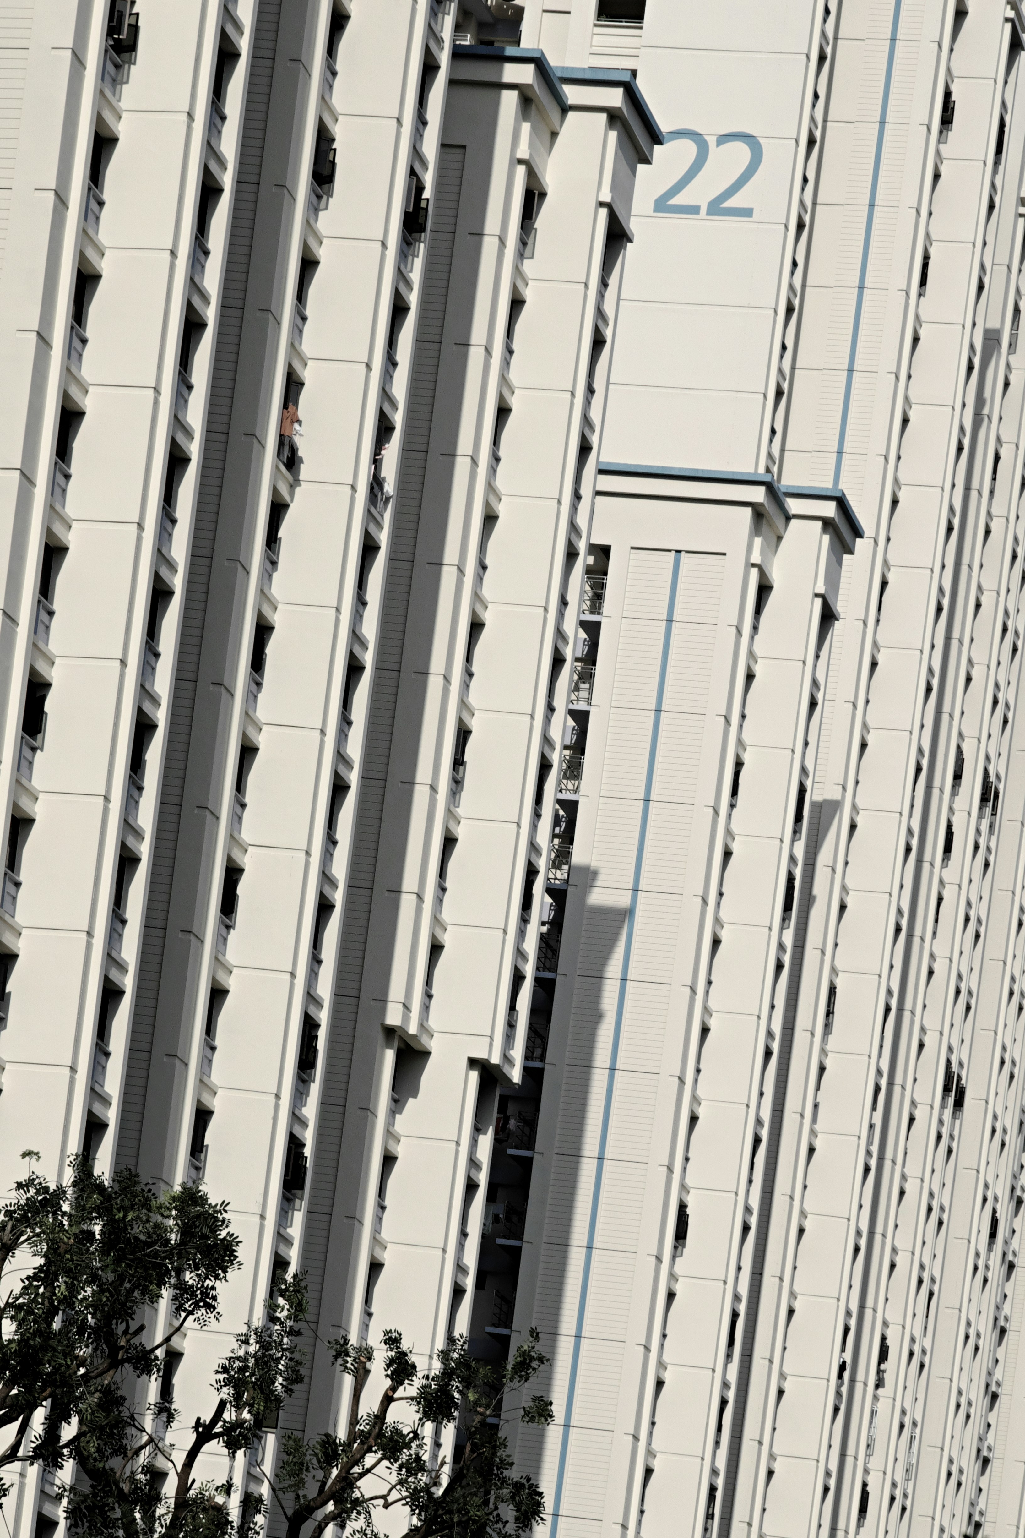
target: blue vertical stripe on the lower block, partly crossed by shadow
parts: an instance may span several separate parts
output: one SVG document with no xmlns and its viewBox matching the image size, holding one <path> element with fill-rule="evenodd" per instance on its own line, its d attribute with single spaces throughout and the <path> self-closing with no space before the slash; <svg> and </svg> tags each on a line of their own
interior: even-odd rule
<svg viewBox="0 0 1025 1538">
<path fill-rule="evenodd" d="M 605 1078 L 605 1104 L 601 1114 L 601 1134 L 598 1137 L 598 1160 L 595 1164 L 595 1186 L 590 1195 L 590 1218 L 587 1221 L 587 1247 L 584 1249 L 584 1270 L 581 1275 L 579 1301 L 576 1304 L 576 1329 L 573 1332 L 573 1357 L 570 1360 L 570 1381 L 566 1390 L 566 1416 L 562 1421 L 562 1441 L 559 1444 L 559 1467 L 555 1476 L 555 1496 L 552 1500 L 552 1538 L 559 1530 L 559 1515 L 562 1503 L 562 1486 L 566 1483 L 566 1460 L 570 1446 L 570 1423 L 573 1420 L 573 1403 L 576 1400 L 576 1377 L 579 1372 L 581 1343 L 584 1340 L 584 1315 L 587 1313 L 587 1293 L 590 1289 L 590 1267 L 595 1255 L 595 1233 L 598 1230 L 598 1212 L 601 1207 L 601 1186 L 605 1172 L 605 1149 L 609 1146 L 609 1123 L 612 1120 L 612 1097 L 616 1087 L 616 1063 L 619 1060 L 619 1038 L 622 1035 L 622 1010 L 627 1003 L 627 981 L 630 977 L 630 955 L 633 952 L 633 929 L 638 917 L 638 897 L 641 894 L 641 871 L 644 867 L 644 846 L 647 843 L 649 815 L 652 811 L 652 786 L 655 784 L 655 760 L 658 757 L 658 738 L 662 727 L 662 700 L 665 698 L 665 675 L 668 674 L 668 652 L 673 641 L 673 615 L 676 612 L 676 589 L 679 588 L 681 552 L 673 551 L 673 575 L 668 584 L 668 603 L 665 606 L 665 629 L 662 632 L 662 660 L 658 669 L 658 687 L 655 691 L 655 717 L 652 720 L 652 740 L 649 743 L 649 764 L 644 777 L 644 803 L 641 806 L 641 827 L 638 831 L 638 849 L 633 857 L 633 886 L 630 889 L 630 907 L 627 909 L 627 932 L 622 944 L 622 969 L 619 972 L 619 995 L 616 998 L 616 1018 L 612 1030 L 612 1052 L 609 1055 L 609 1074 Z"/>
</svg>

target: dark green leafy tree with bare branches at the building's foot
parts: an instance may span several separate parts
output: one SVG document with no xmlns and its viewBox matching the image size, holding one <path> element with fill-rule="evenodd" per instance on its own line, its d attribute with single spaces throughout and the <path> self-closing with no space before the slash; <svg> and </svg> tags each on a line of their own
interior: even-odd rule
<svg viewBox="0 0 1025 1538">
<path fill-rule="evenodd" d="M 0 1210 L 0 1496 L 20 1464 L 41 1464 L 58 1476 L 77 1538 L 255 1535 L 263 1503 L 235 1513 L 231 1478 L 201 1481 L 197 1464 L 217 1450 L 229 1467 L 252 1455 L 303 1381 L 303 1278 L 284 1281 L 266 1320 L 235 1337 L 211 1413 L 184 1436 L 172 1395 L 151 1387 L 175 1337 L 220 1318 L 218 1289 L 237 1266 L 227 1204 L 201 1186 L 157 1193 L 131 1170 L 108 1181 L 81 1158 L 65 1186 L 29 1169 Z M 344 1436 L 286 1433 L 278 1469 L 261 1470 L 289 1538 L 320 1538 L 332 1523 L 375 1538 L 395 1507 L 407 1538 L 507 1538 L 542 1521 L 544 1496 L 513 1472 L 503 1435 L 506 1395 L 519 1398 L 547 1361 L 536 1330 L 506 1363 L 478 1361 L 452 1338 L 430 1370 L 386 1330 L 370 1407 L 373 1350 L 346 1338 L 330 1350 L 352 1380 Z M 519 1418 L 549 1424 L 552 1406 L 535 1395 Z M 450 1464 L 435 1456 L 444 1427 L 455 1427 Z"/>
</svg>

